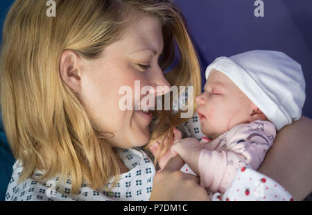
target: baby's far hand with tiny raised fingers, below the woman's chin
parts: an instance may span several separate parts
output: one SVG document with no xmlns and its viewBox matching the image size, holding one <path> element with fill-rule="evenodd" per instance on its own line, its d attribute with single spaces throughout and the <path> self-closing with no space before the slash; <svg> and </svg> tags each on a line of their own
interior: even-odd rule
<svg viewBox="0 0 312 215">
<path fill-rule="evenodd" d="M 166 137 L 166 140 L 164 141 L 164 146 L 168 145 L 168 150 L 166 150 L 166 153 L 164 153 L 164 155 L 162 155 L 162 157 L 159 158 L 158 160 L 158 165 L 160 169 L 163 169 L 164 166 L 166 166 L 166 163 L 168 162 L 168 160 L 170 160 L 172 157 L 175 157 L 177 155 L 177 153 L 173 152 L 171 150 L 171 146 L 173 146 L 173 142 L 181 139 L 182 138 L 182 132 L 180 132 L 180 130 L 178 130 L 177 128 L 173 128 L 173 140 L 169 143 L 168 142 L 168 137 Z M 149 150 L 150 152 L 154 155 L 154 157 L 157 156 L 157 150 L 160 146 L 160 141 L 157 141 L 155 144 L 153 144 L 152 146 L 150 146 Z M 162 148 L 164 148 L 164 146 L 162 146 Z M 162 148 L 160 150 L 162 150 Z"/>
</svg>

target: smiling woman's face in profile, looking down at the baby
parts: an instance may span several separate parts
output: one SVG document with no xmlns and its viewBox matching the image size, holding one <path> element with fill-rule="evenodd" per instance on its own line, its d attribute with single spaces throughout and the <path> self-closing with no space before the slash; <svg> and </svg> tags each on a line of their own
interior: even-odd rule
<svg viewBox="0 0 312 215">
<path fill-rule="evenodd" d="M 152 117 L 140 110 L 121 110 L 119 100 L 124 94 L 119 94 L 119 89 L 122 86 L 132 89 L 134 107 L 146 96 L 140 94 L 135 99 L 135 80 L 140 81 L 140 91 L 144 86 L 153 87 L 155 97 L 157 86 L 170 87 L 158 65 L 162 49 L 159 20 L 144 16 L 128 27 L 122 40 L 107 46 L 101 58 L 85 61 L 78 92 L 80 101 L 97 130 L 114 134 L 109 139 L 113 146 L 132 148 L 148 142 Z"/>
</svg>

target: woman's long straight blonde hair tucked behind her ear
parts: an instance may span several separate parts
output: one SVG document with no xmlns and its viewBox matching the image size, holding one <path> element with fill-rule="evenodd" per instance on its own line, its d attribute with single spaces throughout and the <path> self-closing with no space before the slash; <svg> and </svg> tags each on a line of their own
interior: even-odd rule
<svg viewBox="0 0 312 215">
<path fill-rule="evenodd" d="M 162 23 L 162 69 L 173 62 L 174 42 L 180 49 L 180 62 L 165 74 L 171 85 L 192 84 L 194 94 L 200 94 L 200 67 L 184 17 L 170 0 L 55 3 L 56 17 L 46 16 L 46 1 L 41 0 L 17 0 L 8 12 L 1 47 L 1 112 L 12 152 L 24 167 L 20 181 L 42 169 L 45 174 L 38 180 L 70 177 L 71 193 L 78 193 L 83 181 L 92 189 L 100 189 L 112 176 L 117 176 L 116 183 L 120 170 L 114 149 L 94 129 L 78 96 L 62 82 L 62 53 L 73 50 L 89 60 L 98 58 L 105 46 L 121 39 L 140 12 Z M 172 111 L 155 114 L 150 144 L 187 120 Z"/>
</svg>

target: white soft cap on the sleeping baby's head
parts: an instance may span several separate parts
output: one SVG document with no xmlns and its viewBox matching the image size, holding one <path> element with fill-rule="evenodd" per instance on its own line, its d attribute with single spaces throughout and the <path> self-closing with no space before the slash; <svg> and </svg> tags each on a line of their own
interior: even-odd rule
<svg viewBox="0 0 312 215">
<path fill-rule="evenodd" d="M 220 57 L 206 69 L 229 77 L 280 130 L 300 119 L 306 99 L 301 65 L 279 51 L 254 50 Z"/>
</svg>

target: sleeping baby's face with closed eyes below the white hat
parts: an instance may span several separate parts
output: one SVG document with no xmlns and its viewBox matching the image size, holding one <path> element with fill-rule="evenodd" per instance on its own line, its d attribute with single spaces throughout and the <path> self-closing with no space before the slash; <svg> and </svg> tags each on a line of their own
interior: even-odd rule
<svg viewBox="0 0 312 215">
<path fill-rule="evenodd" d="M 254 107 L 231 79 L 215 69 L 196 102 L 202 133 L 213 139 L 240 123 L 248 123 Z"/>
</svg>

